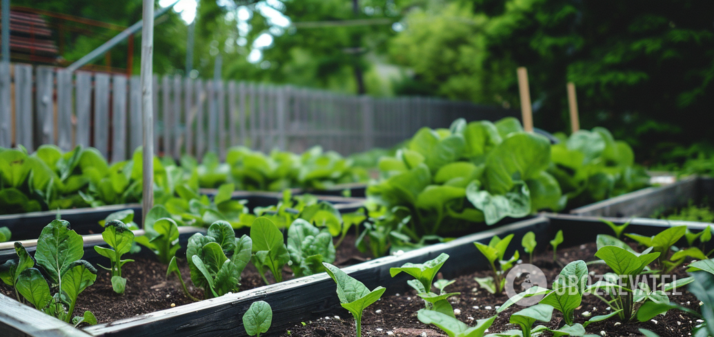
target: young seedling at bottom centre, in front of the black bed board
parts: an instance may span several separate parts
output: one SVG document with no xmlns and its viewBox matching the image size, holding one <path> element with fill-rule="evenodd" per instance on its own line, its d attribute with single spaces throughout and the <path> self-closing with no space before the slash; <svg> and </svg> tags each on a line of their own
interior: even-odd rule
<svg viewBox="0 0 714 337">
<path fill-rule="evenodd" d="M 378 286 L 370 291 L 364 284 L 348 276 L 330 263 L 322 263 L 328 275 L 337 283 L 337 297 L 343 308 L 355 318 L 356 336 L 362 336 L 362 311 L 382 297 L 386 288 Z"/>
</svg>

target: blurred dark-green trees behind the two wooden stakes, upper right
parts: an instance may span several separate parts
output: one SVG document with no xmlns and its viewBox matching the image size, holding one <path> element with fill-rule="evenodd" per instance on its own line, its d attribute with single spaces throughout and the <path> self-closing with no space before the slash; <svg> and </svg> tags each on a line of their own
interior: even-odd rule
<svg viewBox="0 0 714 337">
<path fill-rule="evenodd" d="M 413 71 L 403 94 L 503 106 L 518 106 L 516 67 L 526 66 L 535 125 L 550 131 L 567 128 L 573 81 L 583 127 L 613 129 L 650 156 L 645 145 L 663 136 L 712 137 L 712 12 L 695 0 L 444 1 L 413 9 L 390 51 Z"/>
</svg>

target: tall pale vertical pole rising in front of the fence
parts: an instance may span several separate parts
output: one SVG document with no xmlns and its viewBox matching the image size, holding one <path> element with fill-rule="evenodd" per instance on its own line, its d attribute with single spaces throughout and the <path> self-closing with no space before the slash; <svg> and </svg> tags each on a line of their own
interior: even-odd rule
<svg viewBox="0 0 714 337">
<path fill-rule="evenodd" d="M 146 227 L 146 214 L 154 206 L 154 95 L 152 76 L 154 54 L 154 0 L 144 0 L 144 27 L 141 29 L 141 114 L 144 121 L 144 176 L 141 226 Z"/>
</svg>

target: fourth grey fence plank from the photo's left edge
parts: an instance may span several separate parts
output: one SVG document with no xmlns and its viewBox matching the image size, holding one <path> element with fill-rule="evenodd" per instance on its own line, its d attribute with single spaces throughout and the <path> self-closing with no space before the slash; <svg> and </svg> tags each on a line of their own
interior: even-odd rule
<svg viewBox="0 0 714 337">
<path fill-rule="evenodd" d="M 64 69 L 57 71 L 57 146 L 64 151 L 72 149 L 73 89 L 72 73 Z"/>
</svg>

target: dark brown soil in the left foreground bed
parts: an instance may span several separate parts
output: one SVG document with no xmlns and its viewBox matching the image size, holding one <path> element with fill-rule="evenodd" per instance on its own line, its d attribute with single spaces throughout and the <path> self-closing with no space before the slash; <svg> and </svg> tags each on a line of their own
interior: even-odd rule
<svg viewBox="0 0 714 337">
<path fill-rule="evenodd" d="M 355 236 L 346 236 L 337 249 L 336 266 L 349 266 L 368 260 L 368 256 L 358 251 L 354 243 Z M 123 258 L 129 258 L 129 256 L 123 256 Z M 191 273 L 188 270 L 185 256 L 178 259 L 178 268 L 181 269 L 181 276 L 183 276 L 188 291 L 196 298 L 203 298 L 203 290 L 194 287 L 191 283 Z M 191 299 L 184 295 L 181 283 L 176 277 L 172 276 L 167 280 L 166 266 L 153 258 L 137 258 L 136 261 L 126 263 L 121 268 L 122 276 L 126 278 L 126 291 L 121 295 L 114 293 L 111 288 L 111 273 L 98 266 L 97 269 L 94 285 L 79 294 L 74 311 L 75 316 L 81 316 L 84 311 L 89 310 L 94 313 L 99 323 L 106 323 L 192 303 Z M 266 275 L 266 278 L 271 283 L 275 282 L 272 275 Z M 283 280 L 291 278 L 290 268 L 283 268 Z M 241 273 L 241 291 L 264 285 L 265 283 L 255 266 L 249 263 Z M 15 298 L 14 290 L 1 282 L 0 293 Z"/>
</svg>

